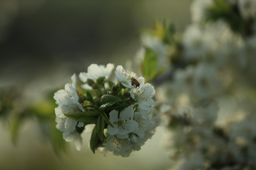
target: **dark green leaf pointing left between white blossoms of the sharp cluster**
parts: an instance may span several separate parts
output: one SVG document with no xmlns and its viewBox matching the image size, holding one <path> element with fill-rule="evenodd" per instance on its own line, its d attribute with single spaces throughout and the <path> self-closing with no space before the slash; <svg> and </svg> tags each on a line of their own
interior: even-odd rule
<svg viewBox="0 0 256 170">
<path fill-rule="evenodd" d="M 64 115 L 76 121 L 84 122 L 85 124 L 93 124 L 98 121 L 100 113 L 96 111 L 84 111 L 82 113 L 66 113 Z"/>
</svg>

